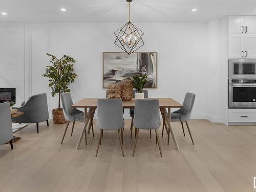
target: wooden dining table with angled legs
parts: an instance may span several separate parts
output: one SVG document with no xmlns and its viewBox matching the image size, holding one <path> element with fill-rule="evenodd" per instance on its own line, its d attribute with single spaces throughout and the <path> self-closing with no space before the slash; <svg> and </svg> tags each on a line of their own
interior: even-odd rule
<svg viewBox="0 0 256 192">
<path fill-rule="evenodd" d="M 79 140 L 76 145 L 76 150 L 79 149 L 84 134 L 87 134 L 87 126 L 89 124 L 90 119 L 94 117 L 95 110 L 97 109 L 97 100 L 98 99 L 100 99 L 100 98 L 83 98 L 72 105 L 74 108 L 83 108 L 84 109 L 84 125 L 83 125 L 82 132 L 80 134 Z M 169 144 L 169 137 L 170 137 L 170 135 L 172 135 L 176 149 L 179 150 L 180 149 L 179 145 L 177 143 L 176 137 L 172 130 L 172 126 L 170 124 L 170 120 L 171 120 L 170 119 L 171 118 L 170 110 L 172 108 L 182 108 L 183 105 L 172 98 L 145 98 L 145 99 L 158 99 L 159 100 L 159 109 L 160 109 L 160 112 L 161 112 L 161 115 L 163 118 L 163 124 L 165 125 L 166 133 L 168 134 L 167 144 Z M 123 101 L 122 104 L 123 104 L 123 109 L 134 109 L 135 108 L 135 99 L 133 98 L 130 101 Z M 88 111 L 88 109 L 89 109 L 89 111 Z M 90 123 L 91 123 L 91 121 L 90 121 Z M 90 129 L 90 127 L 91 127 L 91 125 L 89 125 L 88 129 Z M 90 131 L 90 130 L 88 130 L 88 131 Z M 87 138 L 87 137 L 85 137 L 85 138 Z M 86 141 L 86 143 L 87 143 L 87 141 Z"/>
</svg>

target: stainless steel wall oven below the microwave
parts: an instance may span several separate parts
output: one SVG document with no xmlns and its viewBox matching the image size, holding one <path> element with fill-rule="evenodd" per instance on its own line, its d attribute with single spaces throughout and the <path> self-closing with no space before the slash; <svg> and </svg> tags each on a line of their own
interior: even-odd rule
<svg viewBox="0 0 256 192">
<path fill-rule="evenodd" d="M 229 79 L 229 108 L 256 108 L 256 79 Z"/>
</svg>

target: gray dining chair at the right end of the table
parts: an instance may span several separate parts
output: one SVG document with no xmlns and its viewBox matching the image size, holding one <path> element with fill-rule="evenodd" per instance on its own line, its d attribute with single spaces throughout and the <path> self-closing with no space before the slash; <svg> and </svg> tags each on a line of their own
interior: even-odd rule
<svg viewBox="0 0 256 192">
<path fill-rule="evenodd" d="M 193 145 L 194 145 L 194 140 L 191 135 L 187 121 L 189 121 L 191 118 L 191 113 L 192 113 L 192 109 L 194 106 L 195 98 L 196 98 L 196 95 L 194 93 L 186 93 L 184 101 L 183 101 L 183 107 L 170 114 L 170 121 L 172 121 L 172 122 L 180 121 L 181 122 L 184 136 L 185 136 L 185 132 L 184 132 L 183 122 L 186 123 L 187 130 L 188 130 L 188 133 L 190 135 Z M 164 125 L 163 125 L 163 129 L 164 129 Z M 162 133 L 163 133 L 163 130 L 162 130 Z"/>
</svg>

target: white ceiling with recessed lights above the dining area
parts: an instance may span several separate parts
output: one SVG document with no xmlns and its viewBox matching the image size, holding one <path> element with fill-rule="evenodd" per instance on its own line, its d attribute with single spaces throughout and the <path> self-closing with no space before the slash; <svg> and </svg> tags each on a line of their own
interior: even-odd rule
<svg viewBox="0 0 256 192">
<path fill-rule="evenodd" d="M 8 14 L 0 14 L 0 23 L 123 23 L 128 19 L 125 0 L 0 0 L 0 12 Z M 256 14 L 256 0 L 133 0 L 131 14 L 134 23 L 207 22 L 226 15 Z"/>
</svg>

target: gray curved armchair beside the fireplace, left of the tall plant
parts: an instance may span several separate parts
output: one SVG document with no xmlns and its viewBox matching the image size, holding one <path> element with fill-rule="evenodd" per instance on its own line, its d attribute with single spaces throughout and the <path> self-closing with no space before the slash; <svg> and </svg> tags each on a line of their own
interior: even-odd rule
<svg viewBox="0 0 256 192">
<path fill-rule="evenodd" d="M 36 123 L 36 132 L 39 132 L 39 123 L 46 121 L 49 126 L 49 112 L 47 106 L 46 93 L 33 95 L 28 98 L 27 101 L 22 102 L 20 108 L 17 109 L 20 112 L 24 112 L 24 115 L 19 117 L 12 117 L 14 123 Z"/>
</svg>

